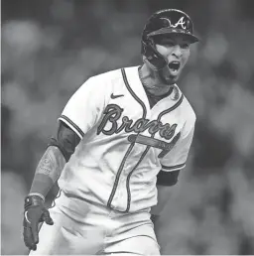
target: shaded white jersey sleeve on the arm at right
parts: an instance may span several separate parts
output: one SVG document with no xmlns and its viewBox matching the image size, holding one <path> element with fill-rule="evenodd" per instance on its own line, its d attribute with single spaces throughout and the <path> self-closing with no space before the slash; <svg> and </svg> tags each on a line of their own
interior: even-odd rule
<svg viewBox="0 0 254 256">
<path fill-rule="evenodd" d="M 195 119 L 191 123 L 187 122 L 176 145 L 161 159 L 162 171 L 172 172 L 186 167 L 194 133 L 194 123 Z"/>
</svg>

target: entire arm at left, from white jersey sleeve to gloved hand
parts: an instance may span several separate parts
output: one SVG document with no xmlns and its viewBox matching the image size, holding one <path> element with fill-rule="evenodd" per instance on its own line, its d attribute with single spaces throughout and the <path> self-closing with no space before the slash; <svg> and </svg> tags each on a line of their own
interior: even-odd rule
<svg viewBox="0 0 254 256">
<path fill-rule="evenodd" d="M 106 95 L 110 96 L 110 84 L 104 79 L 91 77 L 75 91 L 64 107 L 59 118 L 61 125 L 57 138 L 52 139 L 43 155 L 30 193 L 25 199 L 24 240 L 32 250 L 36 250 L 39 242 L 39 222 L 53 224 L 50 213 L 44 206 L 45 197 L 59 180 L 75 146 L 102 115 Z"/>
</svg>

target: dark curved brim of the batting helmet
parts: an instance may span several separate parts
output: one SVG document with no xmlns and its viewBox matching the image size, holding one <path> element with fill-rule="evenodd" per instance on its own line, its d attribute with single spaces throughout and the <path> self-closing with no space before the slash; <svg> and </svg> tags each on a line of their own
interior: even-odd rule
<svg viewBox="0 0 254 256">
<path fill-rule="evenodd" d="M 182 30 L 182 29 L 174 29 L 174 28 L 162 28 L 160 30 L 149 33 L 147 36 L 155 37 L 155 36 L 165 35 L 165 34 L 167 34 L 168 36 L 181 35 L 183 36 L 183 38 L 187 39 L 191 44 L 199 41 L 199 39 L 196 36 L 192 35 L 191 32 L 184 29 Z"/>
</svg>

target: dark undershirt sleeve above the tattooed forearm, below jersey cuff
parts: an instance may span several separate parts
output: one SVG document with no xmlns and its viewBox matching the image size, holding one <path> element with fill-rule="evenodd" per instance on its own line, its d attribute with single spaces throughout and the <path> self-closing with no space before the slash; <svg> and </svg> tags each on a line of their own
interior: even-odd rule
<svg viewBox="0 0 254 256">
<path fill-rule="evenodd" d="M 60 121 L 56 138 L 52 138 L 48 146 L 56 146 L 62 152 L 67 162 L 80 142 L 78 135 L 63 121 Z"/>
</svg>

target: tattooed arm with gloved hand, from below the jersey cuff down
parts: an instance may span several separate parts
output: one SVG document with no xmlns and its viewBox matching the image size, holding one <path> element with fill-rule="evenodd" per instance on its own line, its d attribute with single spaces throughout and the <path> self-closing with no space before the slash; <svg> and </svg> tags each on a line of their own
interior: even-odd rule
<svg viewBox="0 0 254 256">
<path fill-rule="evenodd" d="M 80 139 L 67 125 L 60 121 L 56 138 L 52 138 L 36 169 L 31 190 L 25 198 L 24 241 L 29 249 L 36 250 L 39 242 L 40 222 L 54 224 L 44 201 L 48 192 L 59 180 L 65 163 L 74 152 Z"/>
</svg>

